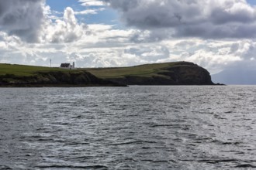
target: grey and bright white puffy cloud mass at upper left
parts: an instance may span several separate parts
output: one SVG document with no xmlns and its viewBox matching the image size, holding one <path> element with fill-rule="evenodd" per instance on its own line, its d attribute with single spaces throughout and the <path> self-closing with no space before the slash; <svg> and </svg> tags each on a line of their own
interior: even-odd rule
<svg viewBox="0 0 256 170">
<path fill-rule="evenodd" d="M 45 0 L 0 1 L 0 31 L 17 36 L 24 42 L 73 42 L 85 36 L 87 28 L 86 24 L 78 22 L 75 14 L 95 12 L 75 13 L 67 7 L 63 17 L 54 17 Z"/>
</svg>

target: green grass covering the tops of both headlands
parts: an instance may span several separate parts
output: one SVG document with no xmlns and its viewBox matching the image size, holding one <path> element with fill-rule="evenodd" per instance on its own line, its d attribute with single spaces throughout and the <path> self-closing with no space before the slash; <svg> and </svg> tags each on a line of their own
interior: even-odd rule
<svg viewBox="0 0 256 170">
<path fill-rule="evenodd" d="M 175 63 L 154 63 L 145 64 L 140 66 L 130 66 L 130 67 L 116 67 L 116 68 L 87 68 L 78 70 L 63 70 L 60 68 L 50 68 L 44 66 L 25 66 L 25 65 L 12 65 L 12 64 L 2 64 L 0 63 L 0 76 L 5 74 L 13 74 L 15 76 L 32 76 L 36 72 L 49 72 L 49 71 L 79 71 L 86 70 L 89 73 L 98 76 L 99 78 L 123 78 L 124 76 L 163 76 L 157 73 L 164 72 L 167 67 L 182 64 L 183 62 Z"/>
</svg>

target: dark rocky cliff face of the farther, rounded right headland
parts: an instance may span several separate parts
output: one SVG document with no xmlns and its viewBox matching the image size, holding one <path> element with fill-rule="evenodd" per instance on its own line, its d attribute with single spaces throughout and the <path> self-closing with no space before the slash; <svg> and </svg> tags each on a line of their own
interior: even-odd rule
<svg viewBox="0 0 256 170">
<path fill-rule="evenodd" d="M 128 85 L 214 85 L 206 69 L 188 62 L 168 66 L 156 76 L 124 76 L 107 80 Z"/>
</svg>

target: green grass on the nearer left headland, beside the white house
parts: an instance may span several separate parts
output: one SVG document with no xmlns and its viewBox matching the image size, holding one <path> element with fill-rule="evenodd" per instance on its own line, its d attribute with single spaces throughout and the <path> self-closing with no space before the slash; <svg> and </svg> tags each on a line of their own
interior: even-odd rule
<svg viewBox="0 0 256 170">
<path fill-rule="evenodd" d="M 0 76 L 5 74 L 13 74 L 15 76 L 32 76 L 36 72 L 48 71 L 63 71 L 69 72 L 71 70 L 62 70 L 60 68 L 50 68 L 44 66 L 25 66 L 16 64 L 2 64 L 0 63 Z M 75 70 L 74 70 L 75 71 Z"/>
</svg>

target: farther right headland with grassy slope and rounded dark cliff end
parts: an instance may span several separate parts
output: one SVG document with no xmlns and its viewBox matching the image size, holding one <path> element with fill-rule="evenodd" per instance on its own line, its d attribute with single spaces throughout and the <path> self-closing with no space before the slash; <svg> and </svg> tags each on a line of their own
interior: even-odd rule
<svg viewBox="0 0 256 170">
<path fill-rule="evenodd" d="M 127 85 L 214 85 L 206 69 L 189 62 L 102 68 L 88 72 L 102 79 Z"/>
</svg>

